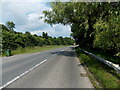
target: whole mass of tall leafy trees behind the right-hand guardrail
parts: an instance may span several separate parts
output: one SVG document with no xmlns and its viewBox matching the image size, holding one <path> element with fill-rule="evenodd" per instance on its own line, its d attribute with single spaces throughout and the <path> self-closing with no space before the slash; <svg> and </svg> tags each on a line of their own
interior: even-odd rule
<svg viewBox="0 0 120 90">
<path fill-rule="evenodd" d="M 80 47 L 120 56 L 120 2 L 52 2 L 51 8 L 44 21 L 69 25 Z"/>
</svg>

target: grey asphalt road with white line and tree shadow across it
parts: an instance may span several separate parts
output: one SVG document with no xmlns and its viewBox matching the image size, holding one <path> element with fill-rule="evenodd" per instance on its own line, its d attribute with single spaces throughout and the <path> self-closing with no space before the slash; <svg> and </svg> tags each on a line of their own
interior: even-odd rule
<svg viewBox="0 0 120 90">
<path fill-rule="evenodd" d="M 74 47 L 2 58 L 2 88 L 92 88 Z"/>
</svg>

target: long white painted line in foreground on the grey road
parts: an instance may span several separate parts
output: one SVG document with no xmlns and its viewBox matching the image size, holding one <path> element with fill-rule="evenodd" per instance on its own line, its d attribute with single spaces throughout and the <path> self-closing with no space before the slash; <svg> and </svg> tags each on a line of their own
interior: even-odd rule
<svg viewBox="0 0 120 90">
<path fill-rule="evenodd" d="M 37 65 L 35 65 L 34 67 L 32 67 L 31 69 L 25 71 L 24 73 L 22 73 L 21 75 L 15 77 L 14 79 L 12 79 L 11 81 L 7 82 L 5 85 L 0 87 L 0 90 L 2 88 L 5 88 L 6 86 L 8 86 L 9 84 L 13 83 L 14 81 L 18 80 L 19 78 L 21 78 L 22 76 L 24 76 L 25 74 L 29 73 L 31 70 L 35 69 L 36 67 L 38 67 L 39 65 L 41 65 L 42 63 L 46 62 L 47 59 L 43 60 L 42 62 L 38 63 Z"/>
</svg>

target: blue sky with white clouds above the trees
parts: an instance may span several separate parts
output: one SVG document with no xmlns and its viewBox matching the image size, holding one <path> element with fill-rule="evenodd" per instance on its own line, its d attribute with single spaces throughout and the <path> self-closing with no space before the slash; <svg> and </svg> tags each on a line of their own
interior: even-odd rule
<svg viewBox="0 0 120 90">
<path fill-rule="evenodd" d="M 51 10 L 47 1 L 49 0 L 2 0 L 0 23 L 13 21 L 16 24 L 15 31 L 18 32 L 29 31 L 31 34 L 41 35 L 44 31 L 52 37 L 69 37 L 71 33 L 69 26 L 57 24 L 51 27 L 42 19 L 38 19 L 43 16 L 43 10 Z"/>
</svg>

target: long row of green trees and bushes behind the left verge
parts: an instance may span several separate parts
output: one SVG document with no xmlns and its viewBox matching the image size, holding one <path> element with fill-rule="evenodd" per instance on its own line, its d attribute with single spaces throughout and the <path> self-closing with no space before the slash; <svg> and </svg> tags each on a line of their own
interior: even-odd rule
<svg viewBox="0 0 120 90">
<path fill-rule="evenodd" d="M 2 35 L 2 52 L 6 49 L 16 50 L 17 48 L 25 48 L 43 45 L 73 45 L 74 40 L 69 37 L 51 37 L 48 33 L 43 32 L 42 36 L 32 35 L 30 32 L 25 33 L 14 31 L 15 24 L 8 21 L 6 25 L 0 24 Z"/>
</svg>

